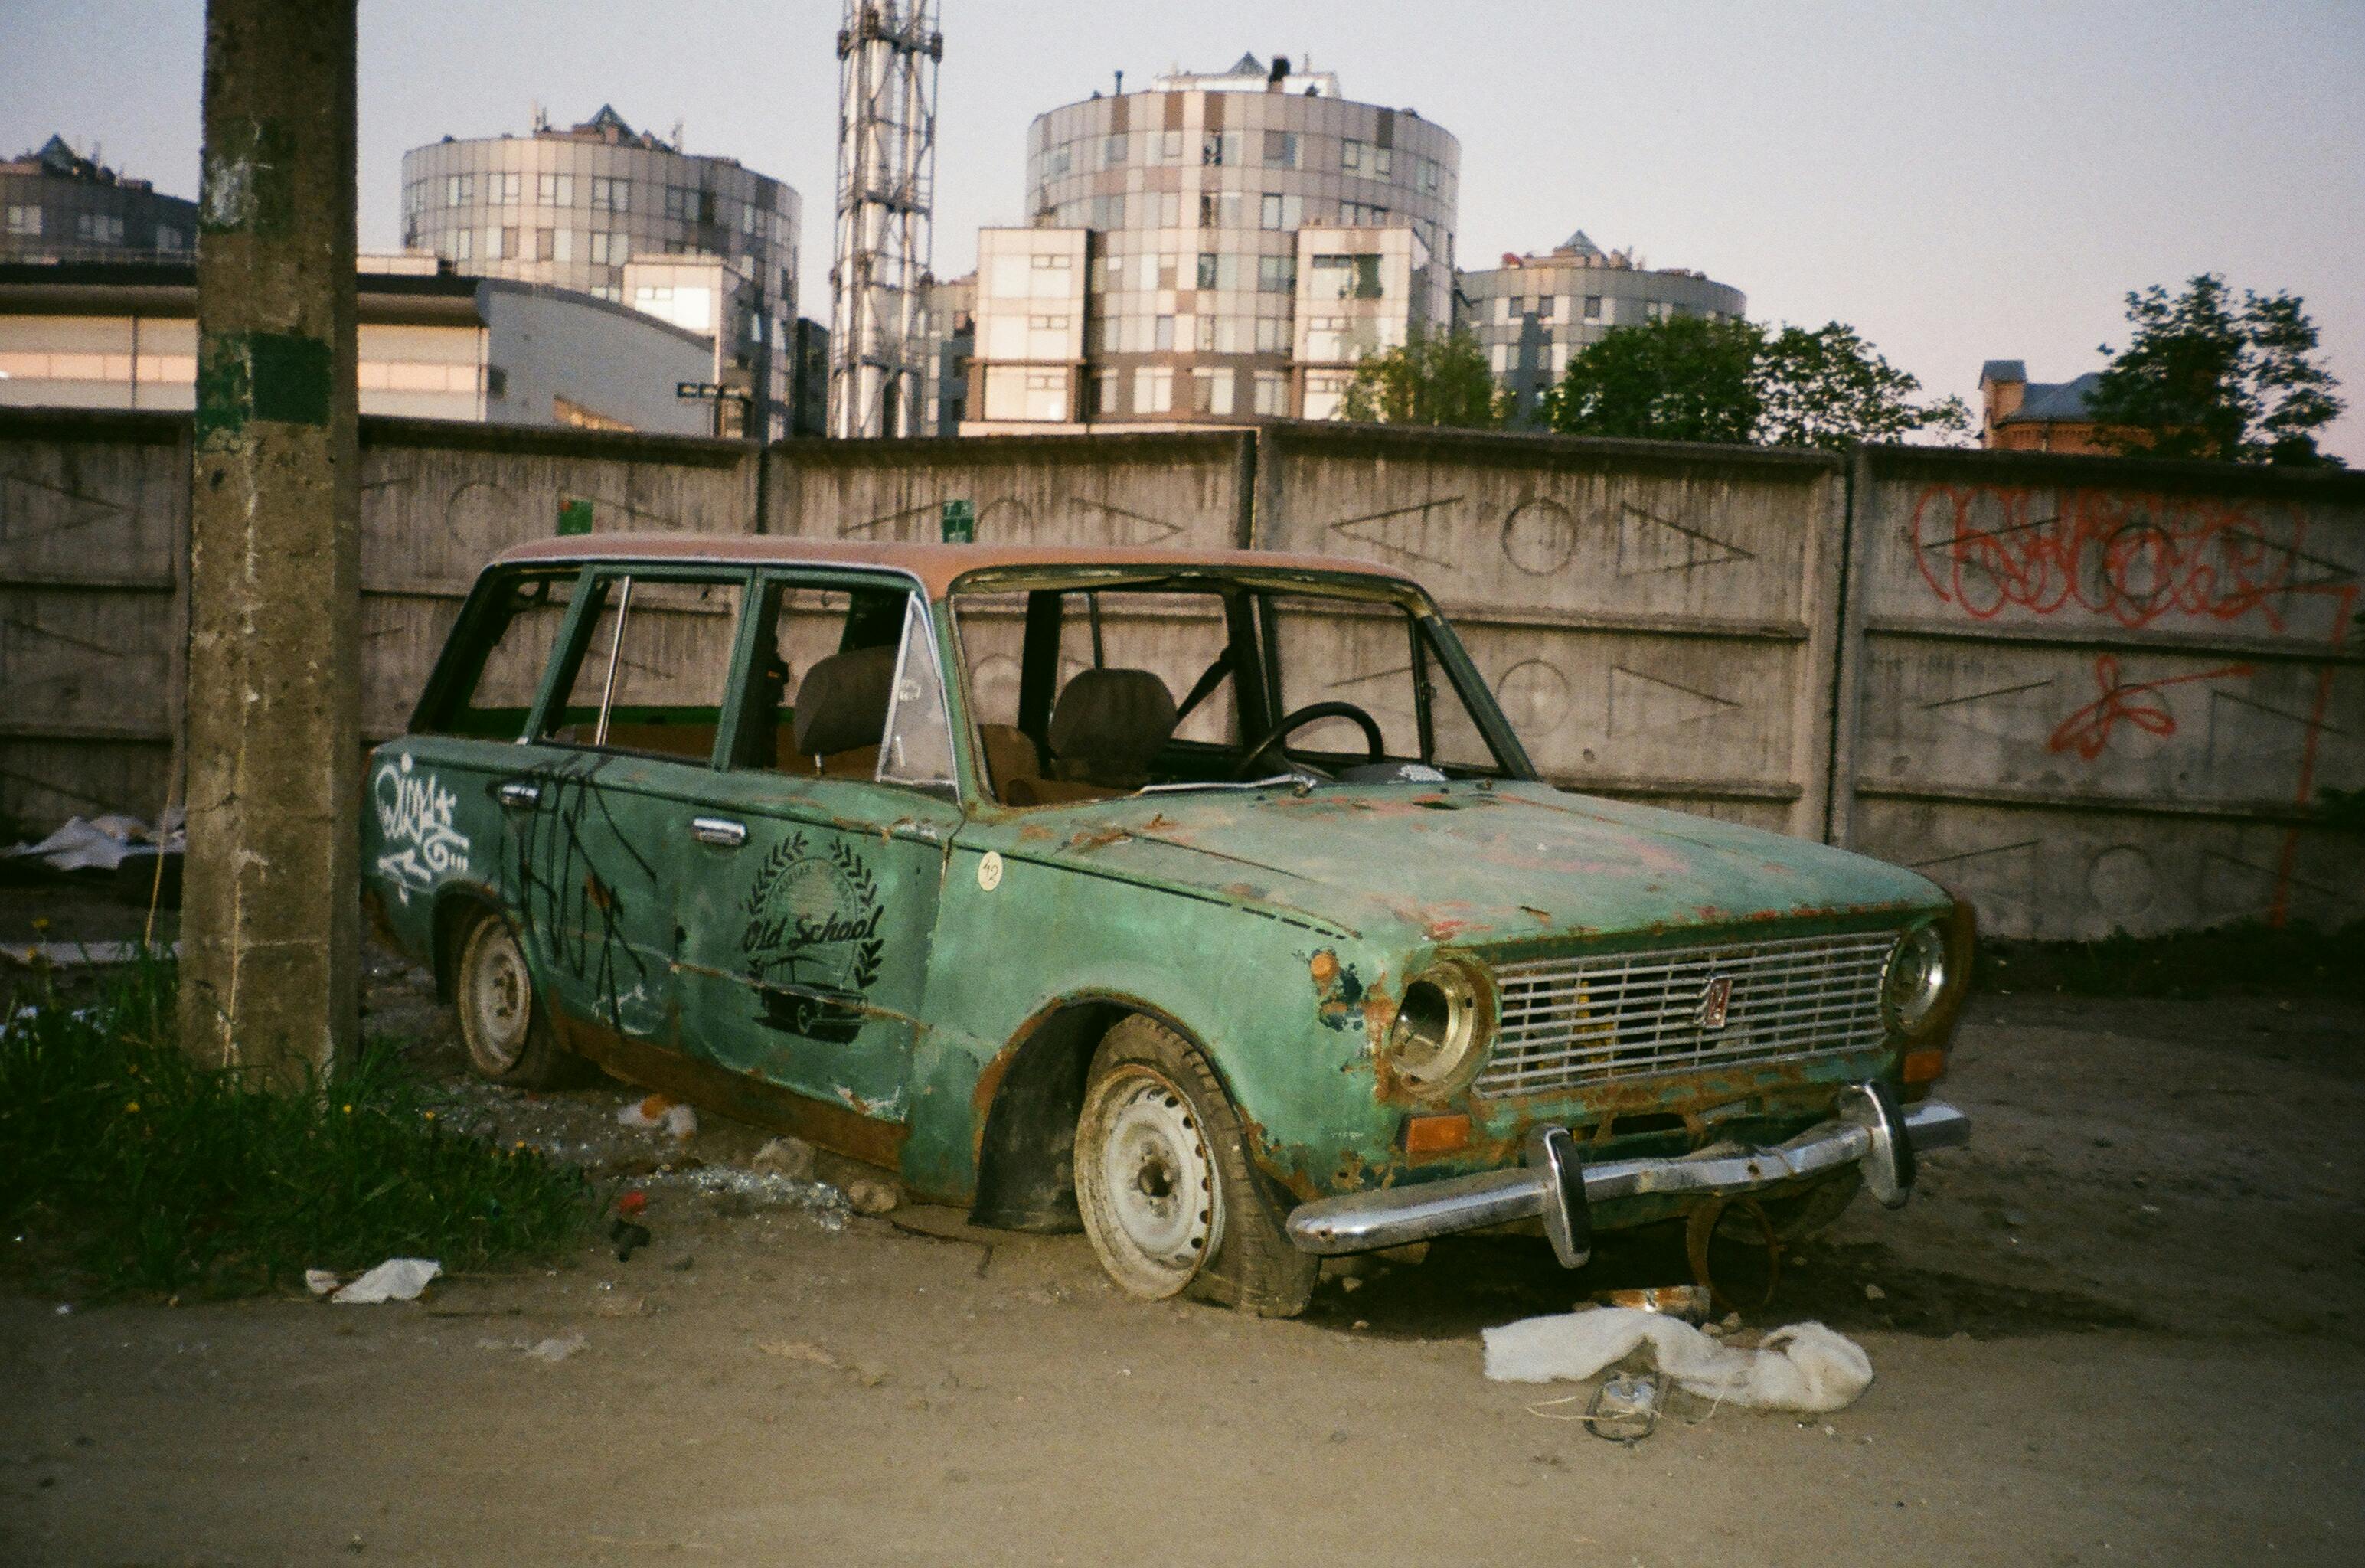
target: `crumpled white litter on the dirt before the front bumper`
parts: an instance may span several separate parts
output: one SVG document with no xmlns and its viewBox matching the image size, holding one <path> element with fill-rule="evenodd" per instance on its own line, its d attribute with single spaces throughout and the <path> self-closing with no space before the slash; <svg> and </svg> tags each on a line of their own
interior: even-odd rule
<svg viewBox="0 0 2365 1568">
<path fill-rule="evenodd" d="M 1497 1384 L 1594 1376 L 1641 1346 L 1686 1393 L 1745 1410 L 1847 1410 L 1873 1384 L 1864 1348 L 1819 1322 L 1774 1329 L 1755 1350 L 1722 1346 L 1665 1313 L 1594 1308 L 1485 1329 L 1485 1374 Z"/>
</svg>

